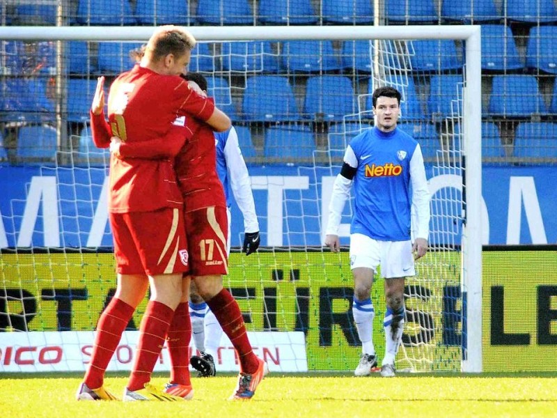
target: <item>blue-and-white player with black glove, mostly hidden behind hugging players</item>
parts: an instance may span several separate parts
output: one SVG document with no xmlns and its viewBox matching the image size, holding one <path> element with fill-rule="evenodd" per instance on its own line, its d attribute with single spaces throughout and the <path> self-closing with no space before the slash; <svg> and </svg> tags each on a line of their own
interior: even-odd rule
<svg viewBox="0 0 557 418">
<path fill-rule="evenodd" d="M 217 147 L 217 173 L 224 187 L 228 207 L 228 252 L 230 252 L 230 205 L 232 203 L 230 194 L 232 194 L 244 216 L 242 251 L 249 256 L 258 249 L 260 236 L 246 162 L 242 157 L 234 127 L 226 132 L 214 132 L 214 139 Z M 192 356 L 190 363 L 199 372 L 200 377 L 211 377 L 217 374 L 214 362 L 218 359 L 217 350 L 223 331 L 219 321 L 198 295 L 194 286 L 190 288 L 189 315 L 194 343 L 200 355 Z"/>
</svg>

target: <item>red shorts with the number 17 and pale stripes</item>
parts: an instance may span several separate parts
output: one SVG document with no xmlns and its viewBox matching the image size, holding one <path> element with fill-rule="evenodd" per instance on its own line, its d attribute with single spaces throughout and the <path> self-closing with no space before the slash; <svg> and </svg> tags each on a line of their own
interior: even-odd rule
<svg viewBox="0 0 557 418">
<path fill-rule="evenodd" d="M 228 274 L 228 216 L 225 206 L 186 212 L 189 270 L 192 276 Z"/>
</svg>

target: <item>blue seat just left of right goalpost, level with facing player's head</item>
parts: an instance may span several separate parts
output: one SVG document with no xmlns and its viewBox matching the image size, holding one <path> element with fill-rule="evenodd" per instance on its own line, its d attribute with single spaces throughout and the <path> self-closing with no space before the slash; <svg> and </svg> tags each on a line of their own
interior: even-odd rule
<svg viewBox="0 0 557 418">
<path fill-rule="evenodd" d="M 460 75 L 434 75 L 430 82 L 427 109 L 430 114 L 447 118 L 458 110 L 457 100 L 462 101 L 462 77 Z M 462 106 L 462 102 L 460 103 Z"/>
</svg>

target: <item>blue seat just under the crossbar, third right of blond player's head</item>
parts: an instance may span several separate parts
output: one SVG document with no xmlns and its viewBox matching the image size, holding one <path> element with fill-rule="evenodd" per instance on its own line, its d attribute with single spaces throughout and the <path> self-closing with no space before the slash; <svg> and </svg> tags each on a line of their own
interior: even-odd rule
<svg viewBox="0 0 557 418">
<path fill-rule="evenodd" d="M 291 40 L 281 43 L 283 67 L 292 72 L 340 70 L 330 40 Z"/>
</svg>

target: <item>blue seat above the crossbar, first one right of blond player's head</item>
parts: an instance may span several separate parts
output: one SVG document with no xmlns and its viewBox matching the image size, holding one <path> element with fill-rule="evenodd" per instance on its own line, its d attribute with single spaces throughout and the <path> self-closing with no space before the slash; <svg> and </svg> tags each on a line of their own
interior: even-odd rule
<svg viewBox="0 0 557 418">
<path fill-rule="evenodd" d="M 196 22 L 201 24 L 253 24 L 248 0 L 198 0 Z"/>
</svg>

